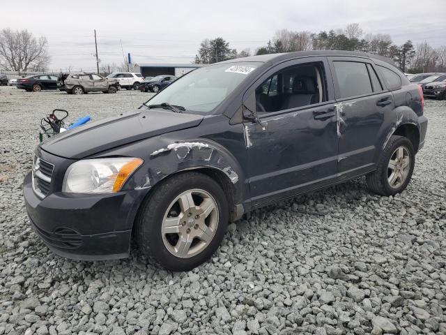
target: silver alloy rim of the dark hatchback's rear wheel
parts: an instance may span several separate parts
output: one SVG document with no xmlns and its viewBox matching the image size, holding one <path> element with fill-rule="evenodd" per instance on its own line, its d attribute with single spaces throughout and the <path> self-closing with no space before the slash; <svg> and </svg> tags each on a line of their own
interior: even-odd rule
<svg viewBox="0 0 446 335">
<path fill-rule="evenodd" d="M 387 165 L 387 181 L 390 187 L 399 188 L 410 172 L 410 154 L 406 147 L 397 147 Z"/>
</svg>

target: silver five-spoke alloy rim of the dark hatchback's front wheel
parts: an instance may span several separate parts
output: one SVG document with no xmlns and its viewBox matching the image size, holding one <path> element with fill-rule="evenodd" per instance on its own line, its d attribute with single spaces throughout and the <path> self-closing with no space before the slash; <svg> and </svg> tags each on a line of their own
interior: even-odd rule
<svg viewBox="0 0 446 335">
<path fill-rule="evenodd" d="M 178 258 L 201 253 L 213 240 L 219 221 L 217 202 L 208 192 L 193 189 L 175 198 L 164 214 L 164 246 Z"/>
</svg>

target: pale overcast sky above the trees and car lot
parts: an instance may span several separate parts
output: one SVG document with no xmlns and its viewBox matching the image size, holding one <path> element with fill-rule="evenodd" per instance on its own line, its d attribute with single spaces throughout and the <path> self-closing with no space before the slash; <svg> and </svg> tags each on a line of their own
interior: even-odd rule
<svg viewBox="0 0 446 335">
<path fill-rule="evenodd" d="M 351 22 L 397 44 L 438 47 L 446 45 L 445 14 L 446 0 L 20 0 L 2 1 L 0 28 L 46 36 L 50 69 L 93 70 L 93 29 L 101 64 L 120 64 L 123 52 L 136 63 L 190 63 L 204 38 L 221 36 L 253 52 L 277 29 L 318 32 Z"/>
</svg>

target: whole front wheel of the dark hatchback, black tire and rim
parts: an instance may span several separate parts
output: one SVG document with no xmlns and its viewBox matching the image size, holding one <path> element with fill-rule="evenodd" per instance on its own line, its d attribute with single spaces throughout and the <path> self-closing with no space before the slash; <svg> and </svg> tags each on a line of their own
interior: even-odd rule
<svg viewBox="0 0 446 335">
<path fill-rule="evenodd" d="M 189 194 L 190 197 L 187 196 Z M 183 210 L 180 200 L 176 201 L 180 195 L 182 199 L 189 200 L 193 195 L 194 204 Z M 199 215 L 203 204 L 208 204 L 208 209 Z M 167 228 L 178 232 L 166 232 L 167 221 L 164 218 L 171 220 L 171 226 Z M 134 237 L 149 260 L 172 271 L 188 271 L 215 253 L 226 233 L 228 221 L 229 207 L 220 185 L 205 174 L 185 172 L 162 182 L 144 200 L 135 222 Z M 208 234 L 204 234 L 205 230 Z M 201 237 L 196 237 L 197 234 Z M 180 237 L 187 237 L 189 243 L 181 239 L 182 243 Z M 181 246 L 185 246 L 183 251 Z"/>
</svg>

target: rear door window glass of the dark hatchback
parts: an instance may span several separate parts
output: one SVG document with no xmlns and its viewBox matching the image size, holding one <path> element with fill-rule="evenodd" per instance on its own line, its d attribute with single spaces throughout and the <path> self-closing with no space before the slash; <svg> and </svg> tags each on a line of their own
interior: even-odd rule
<svg viewBox="0 0 446 335">
<path fill-rule="evenodd" d="M 360 96 L 372 92 L 369 72 L 365 63 L 334 61 L 333 64 L 339 87 L 339 98 Z"/>
</svg>

